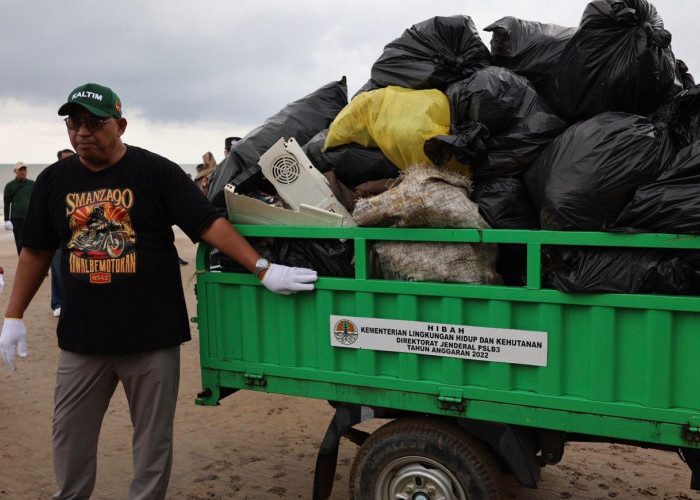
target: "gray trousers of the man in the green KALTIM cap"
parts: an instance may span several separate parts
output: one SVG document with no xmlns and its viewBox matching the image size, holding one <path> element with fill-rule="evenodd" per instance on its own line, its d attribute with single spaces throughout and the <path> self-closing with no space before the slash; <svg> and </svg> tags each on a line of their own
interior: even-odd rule
<svg viewBox="0 0 700 500">
<path fill-rule="evenodd" d="M 124 356 L 61 351 L 54 392 L 53 466 L 58 491 L 53 500 L 90 498 L 102 420 L 120 381 L 134 428 L 134 477 L 128 498 L 165 498 L 173 460 L 180 346 Z"/>
</svg>

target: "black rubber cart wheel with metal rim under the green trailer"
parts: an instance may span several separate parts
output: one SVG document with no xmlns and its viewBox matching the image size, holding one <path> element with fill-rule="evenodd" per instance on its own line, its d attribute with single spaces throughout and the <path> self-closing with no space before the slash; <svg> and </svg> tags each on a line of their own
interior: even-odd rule
<svg viewBox="0 0 700 500">
<path fill-rule="evenodd" d="M 457 426 L 404 418 L 375 431 L 350 472 L 353 500 L 503 498 L 500 472 L 486 448 Z"/>
</svg>

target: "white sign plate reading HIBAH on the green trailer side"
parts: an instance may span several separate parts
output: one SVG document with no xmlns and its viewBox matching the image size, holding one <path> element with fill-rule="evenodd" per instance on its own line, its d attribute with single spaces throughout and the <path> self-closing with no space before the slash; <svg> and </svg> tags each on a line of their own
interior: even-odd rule
<svg viewBox="0 0 700 500">
<path fill-rule="evenodd" d="M 334 347 L 547 366 L 547 332 L 335 315 L 330 329 Z"/>
</svg>

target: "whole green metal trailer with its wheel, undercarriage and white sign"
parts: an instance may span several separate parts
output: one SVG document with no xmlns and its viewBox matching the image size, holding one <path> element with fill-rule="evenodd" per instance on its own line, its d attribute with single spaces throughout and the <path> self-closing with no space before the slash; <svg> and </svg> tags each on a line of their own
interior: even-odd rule
<svg viewBox="0 0 700 500">
<path fill-rule="evenodd" d="M 569 441 L 678 452 L 700 489 L 700 297 L 571 294 L 541 285 L 551 245 L 700 249 L 700 237 L 477 229 L 238 226 L 248 238 L 346 240 L 355 276 L 267 291 L 197 255 L 203 390 L 329 401 L 314 498 L 331 493 L 341 437 L 360 447 L 354 499 L 499 498 L 536 487 Z M 525 286 L 374 279 L 374 241 L 521 245 Z M 367 433 L 354 426 L 390 419 Z"/>
</svg>

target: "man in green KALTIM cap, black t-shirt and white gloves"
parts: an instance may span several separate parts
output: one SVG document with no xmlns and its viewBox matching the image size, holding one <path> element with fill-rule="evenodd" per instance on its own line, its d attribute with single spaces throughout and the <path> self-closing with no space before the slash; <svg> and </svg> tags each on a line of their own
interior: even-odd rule
<svg viewBox="0 0 700 500">
<path fill-rule="evenodd" d="M 316 272 L 270 264 L 222 218 L 175 163 L 121 140 L 121 102 L 89 83 L 61 106 L 77 154 L 37 178 L 0 352 L 27 354 L 22 317 L 54 251 L 64 300 L 58 321 L 53 419 L 54 499 L 88 498 L 97 439 L 121 382 L 134 427 L 129 499 L 162 499 L 172 464 L 180 344 L 189 323 L 172 226 L 255 272 L 269 290 L 312 290 Z"/>
</svg>

